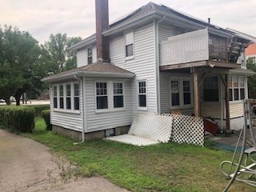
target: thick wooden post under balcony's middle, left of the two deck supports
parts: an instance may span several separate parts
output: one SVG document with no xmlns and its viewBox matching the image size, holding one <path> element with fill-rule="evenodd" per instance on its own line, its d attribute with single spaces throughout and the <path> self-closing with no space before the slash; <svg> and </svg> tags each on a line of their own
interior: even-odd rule
<svg viewBox="0 0 256 192">
<path fill-rule="evenodd" d="M 194 71 L 194 116 L 200 117 L 200 93 L 198 83 L 198 72 Z"/>
</svg>

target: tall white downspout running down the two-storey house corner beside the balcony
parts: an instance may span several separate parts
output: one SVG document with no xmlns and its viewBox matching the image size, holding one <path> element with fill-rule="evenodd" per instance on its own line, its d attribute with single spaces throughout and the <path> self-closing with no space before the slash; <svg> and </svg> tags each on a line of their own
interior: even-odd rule
<svg viewBox="0 0 256 192">
<path fill-rule="evenodd" d="M 156 88 L 157 88 L 157 103 L 158 103 L 158 108 L 157 108 L 157 114 L 161 113 L 161 101 L 160 101 L 160 71 L 159 71 L 159 37 L 158 37 L 158 25 L 160 22 L 162 22 L 166 16 L 162 16 L 162 19 L 159 20 L 158 22 L 154 21 L 154 34 L 155 34 L 155 52 L 156 52 L 156 57 L 155 57 L 155 77 L 156 77 Z"/>
</svg>

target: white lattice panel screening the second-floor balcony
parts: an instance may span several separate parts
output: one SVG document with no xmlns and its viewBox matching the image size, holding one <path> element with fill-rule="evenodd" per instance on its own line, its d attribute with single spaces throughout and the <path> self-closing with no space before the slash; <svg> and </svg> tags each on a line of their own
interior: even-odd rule
<svg viewBox="0 0 256 192">
<path fill-rule="evenodd" d="M 209 59 L 208 30 L 179 34 L 160 43 L 161 66 Z"/>
</svg>

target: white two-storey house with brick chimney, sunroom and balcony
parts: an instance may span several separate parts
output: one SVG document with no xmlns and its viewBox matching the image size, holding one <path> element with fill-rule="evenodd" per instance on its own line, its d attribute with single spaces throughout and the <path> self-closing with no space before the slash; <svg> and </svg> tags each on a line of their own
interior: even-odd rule
<svg viewBox="0 0 256 192">
<path fill-rule="evenodd" d="M 78 68 L 42 79 L 54 130 L 105 137 L 171 110 L 242 128 L 251 39 L 153 2 L 109 26 L 107 0 L 95 2 L 96 34 L 70 47 Z"/>
</svg>

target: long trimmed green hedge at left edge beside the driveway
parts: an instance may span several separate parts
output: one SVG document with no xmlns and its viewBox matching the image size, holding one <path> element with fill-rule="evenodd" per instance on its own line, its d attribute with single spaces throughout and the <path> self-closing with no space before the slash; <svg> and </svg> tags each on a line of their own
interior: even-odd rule
<svg viewBox="0 0 256 192">
<path fill-rule="evenodd" d="M 34 129 L 34 108 L 26 106 L 0 107 L 1 128 L 14 132 L 31 132 Z"/>
</svg>

